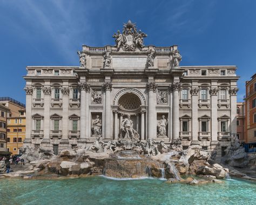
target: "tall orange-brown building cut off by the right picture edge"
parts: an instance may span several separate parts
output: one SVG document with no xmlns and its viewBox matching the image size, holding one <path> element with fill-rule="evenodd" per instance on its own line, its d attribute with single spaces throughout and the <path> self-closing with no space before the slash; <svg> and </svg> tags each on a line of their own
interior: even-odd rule
<svg viewBox="0 0 256 205">
<path fill-rule="evenodd" d="M 248 152 L 256 152 L 256 73 L 246 81 L 245 142 Z"/>
</svg>

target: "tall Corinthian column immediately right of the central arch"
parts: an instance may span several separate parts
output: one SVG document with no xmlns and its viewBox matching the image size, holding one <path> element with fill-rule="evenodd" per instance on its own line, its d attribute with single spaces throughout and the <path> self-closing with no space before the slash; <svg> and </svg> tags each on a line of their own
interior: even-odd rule
<svg viewBox="0 0 256 205">
<path fill-rule="evenodd" d="M 156 90 L 155 83 L 147 83 L 148 107 L 147 107 L 147 138 L 156 138 L 157 136 L 157 112 L 156 112 Z"/>
</svg>

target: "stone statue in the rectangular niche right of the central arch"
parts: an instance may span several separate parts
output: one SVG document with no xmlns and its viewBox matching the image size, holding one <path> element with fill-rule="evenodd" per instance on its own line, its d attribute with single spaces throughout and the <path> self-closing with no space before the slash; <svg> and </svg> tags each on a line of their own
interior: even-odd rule
<svg viewBox="0 0 256 205">
<path fill-rule="evenodd" d="M 157 113 L 157 137 L 167 138 L 168 137 L 168 114 Z"/>
</svg>

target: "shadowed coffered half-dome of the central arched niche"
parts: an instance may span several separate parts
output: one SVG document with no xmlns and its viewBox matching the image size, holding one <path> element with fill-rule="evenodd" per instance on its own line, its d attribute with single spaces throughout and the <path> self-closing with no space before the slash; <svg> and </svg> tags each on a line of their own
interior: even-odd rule
<svg viewBox="0 0 256 205">
<path fill-rule="evenodd" d="M 118 108 L 122 111 L 135 112 L 141 105 L 140 98 L 134 93 L 125 93 L 118 100 Z"/>
</svg>

